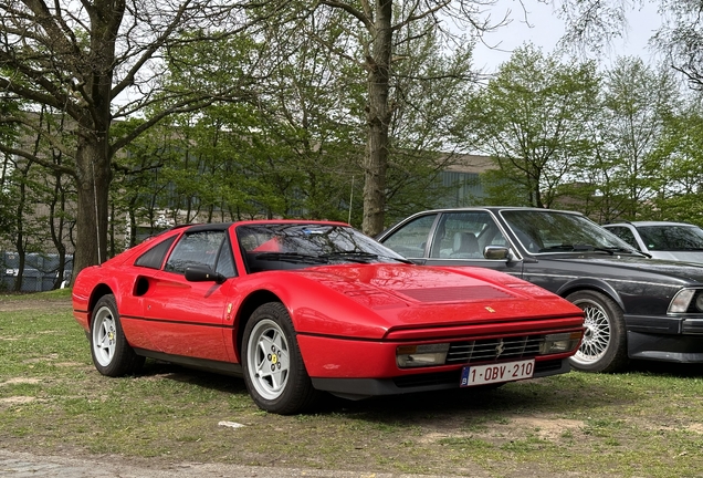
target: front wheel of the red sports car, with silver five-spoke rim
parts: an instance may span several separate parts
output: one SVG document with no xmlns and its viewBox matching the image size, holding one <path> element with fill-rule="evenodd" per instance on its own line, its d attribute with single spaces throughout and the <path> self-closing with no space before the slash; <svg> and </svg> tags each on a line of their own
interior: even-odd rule
<svg viewBox="0 0 703 478">
<path fill-rule="evenodd" d="M 261 305 L 246 322 L 242 367 L 249 394 L 266 412 L 300 413 L 319 395 L 305 370 L 291 316 L 280 302 Z"/>
</svg>

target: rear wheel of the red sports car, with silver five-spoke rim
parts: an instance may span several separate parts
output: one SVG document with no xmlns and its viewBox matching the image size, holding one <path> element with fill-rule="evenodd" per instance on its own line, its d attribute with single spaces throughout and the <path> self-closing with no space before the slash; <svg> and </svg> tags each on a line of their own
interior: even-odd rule
<svg viewBox="0 0 703 478">
<path fill-rule="evenodd" d="M 95 368 L 103 375 L 129 375 L 144 365 L 145 358 L 135 353 L 122 331 L 117 303 L 112 294 L 103 295 L 95 304 L 88 340 Z"/>
</svg>

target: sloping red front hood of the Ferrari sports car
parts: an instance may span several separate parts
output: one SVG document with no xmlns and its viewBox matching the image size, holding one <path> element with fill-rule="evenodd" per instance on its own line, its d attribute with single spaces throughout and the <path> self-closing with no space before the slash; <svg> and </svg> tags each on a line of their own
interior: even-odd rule
<svg viewBox="0 0 703 478">
<path fill-rule="evenodd" d="M 318 320 L 312 321 L 314 325 L 304 321 L 318 332 L 323 332 L 322 328 L 332 333 L 349 322 L 355 324 L 357 335 L 366 336 L 378 336 L 381 330 L 386 333 L 394 329 L 475 326 L 525 319 L 543 322 L 568 316 L 583 322 L 583 311 L 565 299 L 485 268 L 363 264 L 296 273 L 346 298 L 329 299 L 335 302 L 336 312 L 332 308 L 325 319 L 317 310 L 317 318 L 328 326 Z M 350 303 L 361 308 L 349 306 Z"/>
</svg>

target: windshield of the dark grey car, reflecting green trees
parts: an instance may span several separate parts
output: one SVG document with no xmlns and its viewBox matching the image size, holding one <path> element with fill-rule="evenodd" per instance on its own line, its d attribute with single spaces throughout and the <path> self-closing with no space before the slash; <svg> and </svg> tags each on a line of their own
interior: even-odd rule
<svg viewBox="0 0 703 478">
<path fill-rule="evenodd" d="M 585 216 L 520 209 L 504 210 L 501 215 L 531 253 L 636 252 L 627 242 Z"/>
</svg>

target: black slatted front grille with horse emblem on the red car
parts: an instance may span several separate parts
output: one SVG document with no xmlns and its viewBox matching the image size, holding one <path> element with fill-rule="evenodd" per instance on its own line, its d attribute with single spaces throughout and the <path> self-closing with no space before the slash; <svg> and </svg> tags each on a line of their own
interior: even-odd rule
<svg viewBox="0 0 703 478">
<path fill-rule="evenodd" d="M 449 346 L 445 364 L 532 358 L 539 354 L 539 344 L 543 342 L 544 335 L 454 342 Z"/>
</svg>

